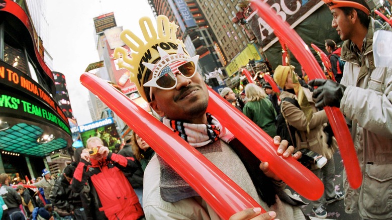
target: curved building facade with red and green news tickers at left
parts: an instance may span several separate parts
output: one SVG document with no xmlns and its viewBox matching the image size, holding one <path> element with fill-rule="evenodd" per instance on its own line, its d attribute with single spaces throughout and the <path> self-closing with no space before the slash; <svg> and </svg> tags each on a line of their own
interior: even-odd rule
<svg viewBox="0 0 392 220">
<path fill-rule="evenodd" d="M 71 131 L 26 2 L 0 2 L 0 173 L 34 178 Z"/>
</svg>

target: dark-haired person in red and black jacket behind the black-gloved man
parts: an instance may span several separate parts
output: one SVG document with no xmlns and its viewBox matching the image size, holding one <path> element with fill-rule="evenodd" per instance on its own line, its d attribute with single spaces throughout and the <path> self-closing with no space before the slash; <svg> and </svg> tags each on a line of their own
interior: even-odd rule
<svg viewBox="0 0 392 220">
<path fill-rule="evenodd" d="M 325 49 L 328 52 L 328 58 L 331 61 L 331 69 L 335 80 L 340 83 L 343 76 L 343 66 L 340 65 L 340 53 L 342 48 L 338 47 L 335 41 L 331 39 L 325 40 Z"/>
</svg>

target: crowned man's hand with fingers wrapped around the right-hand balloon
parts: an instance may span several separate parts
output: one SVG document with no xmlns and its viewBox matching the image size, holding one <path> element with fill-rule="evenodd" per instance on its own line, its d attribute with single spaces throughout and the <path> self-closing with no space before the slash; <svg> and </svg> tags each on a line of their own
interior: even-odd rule
<svg viewBox="0 0 392 220">
<path fill-rule="evenodd" d="M 277 154 L 281 155 L 283 158 L 287 158 L 290 155 L 294 153 L 294 147 L 293 146 L 288 146 L 288 142 L 286 140 L 280 141 L 279 136 L 275 136 L 273 138 L 273 143 L 278 146 L 277 149 Z M 287 147 L 288 146 L 288 147 Z M 300 159 L 302 156 L 302 153 L 300 151 L 296 152 L 295 154 L 292 155 L 292 157 L 296 160 Z M 280 181 L 280 179 L 276 176 L 275 173 L 273 173 L 271 170 L 269 170 L 269 164 L 268 162 L 261 162 L 260 164 L 260 169 L 261 171 L 264 172 L 264 174 L 270 178 L 273 178 L 276 181 Z"/>
</svg>

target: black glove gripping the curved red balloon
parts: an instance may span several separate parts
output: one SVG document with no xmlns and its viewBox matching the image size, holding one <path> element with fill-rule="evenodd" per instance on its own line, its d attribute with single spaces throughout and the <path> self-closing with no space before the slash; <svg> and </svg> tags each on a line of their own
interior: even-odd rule
<svg viewBox="0 0 392 220">
<path fill-rule="evenodd" d="M 308 84 L 310 86 L 318 86 L 313 91 L 316 107 L 340 107 L 340 101 L 346 86 L 328 79 L 314 79 L 309 81 Z"/>
</svg>

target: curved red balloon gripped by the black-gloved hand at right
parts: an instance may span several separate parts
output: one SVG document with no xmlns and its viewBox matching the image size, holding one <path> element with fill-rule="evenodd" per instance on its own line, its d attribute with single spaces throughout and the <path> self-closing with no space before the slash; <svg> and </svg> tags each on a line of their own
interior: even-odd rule
<svg viewBox="0 0 392 220">
<path fill-rule="evenodd" d="M 274 34 L 281 39 L 287 45 L 288 49 L 296 56 L 309 78 L 325 79 L 326 77 L 323 74 L 319 63 L 297 32 L 292 30 L 286 22 L 283 22 L 282 19 L 276 15 L 276 12 L 271 10 L 270 6 L 266 3 L 251 0 L 251 4 L 252 7 L 258 11 L 260 18 L 270 27 L 274 28 Z M 343 164 L 346 168 L 347 179 L 351 187 L 356 189 L 362 183 L 362 172 L 359 168 L 354 143 L 352 142 L 346 121 L 339 111 L 339 108 L 325 107 L 324 109 L 335 134 L 336 141 L 338 142 Z"/>
</svg>

